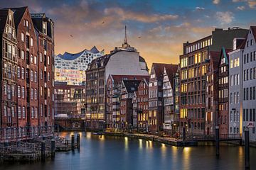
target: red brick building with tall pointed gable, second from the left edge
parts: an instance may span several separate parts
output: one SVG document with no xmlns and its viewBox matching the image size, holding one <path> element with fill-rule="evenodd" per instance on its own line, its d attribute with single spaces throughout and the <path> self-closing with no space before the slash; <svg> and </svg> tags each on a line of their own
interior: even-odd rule
<svg viewBox="0 0 256 170">
<path fill-rule="evenodd" d="M 11 8 L 17 33 L 17 113 L 19 128 L 38 133 L 38 49 L 28 7 Z"/>
</svg>

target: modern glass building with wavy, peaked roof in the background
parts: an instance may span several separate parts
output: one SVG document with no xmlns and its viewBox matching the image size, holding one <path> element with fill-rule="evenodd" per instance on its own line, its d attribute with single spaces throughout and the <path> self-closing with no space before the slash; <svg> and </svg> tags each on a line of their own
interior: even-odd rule
<svg viewBox="0 0 256 170">
<path fill-rule="evenodd" d="M 68 85 L 79 85 L 85 82 L 85 70 L 88 64 L 97 57 L 104 55 L 104 50 L 97 47 L 82 50 L 76 54 L 65 52 L 55 56 L 55 81 L 67 82 Z"/>
</svg>

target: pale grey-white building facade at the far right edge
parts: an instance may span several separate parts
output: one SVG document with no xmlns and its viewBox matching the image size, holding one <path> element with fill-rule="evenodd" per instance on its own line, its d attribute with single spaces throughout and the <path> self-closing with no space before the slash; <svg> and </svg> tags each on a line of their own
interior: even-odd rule
<svg viewBox="0 0 256 170">
<path fill-rule="evenodd" d="M 242 127 L 249 127 L 250 141 L 256 142 L 256 27 L 250 27 L 242 61 Z M 243 131 L 242 131 L 243 132 Z"/>
</svg>

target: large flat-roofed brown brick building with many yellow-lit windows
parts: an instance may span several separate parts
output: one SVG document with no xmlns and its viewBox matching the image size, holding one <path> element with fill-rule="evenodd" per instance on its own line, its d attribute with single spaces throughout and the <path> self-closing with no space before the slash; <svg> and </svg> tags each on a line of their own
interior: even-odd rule
<svg viewBox="0 0 256 170">
<path fill-rule="evenodd" d="M 247 30 L 241 28 L 216 28 L 205 38 L 183 44 L 183 55 L 180 56 L 180 127 L 186 127 L 189 133 L 206 134 L 206 74 L 209 72 L 210 52 L 220 52 L 222 47 L 231 49 L 233 38 L 246 34 Z"/>
</svg>

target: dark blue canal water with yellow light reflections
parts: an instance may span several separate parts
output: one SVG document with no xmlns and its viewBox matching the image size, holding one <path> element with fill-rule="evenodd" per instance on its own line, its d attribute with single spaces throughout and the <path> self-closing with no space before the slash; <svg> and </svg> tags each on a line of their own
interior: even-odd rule
<svg viewBox="0 0 256 170">
<path fill-rule="evenodd" d="M 76 135 L 63 132 L 61 136 Z M 222 144 L 220 158 L 214 146 L 173 147 L 157 142 L 79 132 L 80 150 L 57 152 L 55 160 L 33 164 L 2 164 L 1 170 L 88 169 L 245 169 L 244 148 Z M 256 149 L 250 148 L 250 167 L 256 169 Z"/>
</svg>

